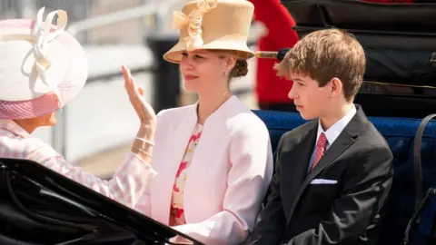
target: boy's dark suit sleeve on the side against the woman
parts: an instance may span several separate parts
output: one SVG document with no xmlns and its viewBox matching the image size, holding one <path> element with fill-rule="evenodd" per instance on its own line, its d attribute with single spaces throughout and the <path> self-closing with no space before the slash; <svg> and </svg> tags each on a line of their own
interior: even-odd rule
<svg viewBox="0 0 436 245">
<path fill-rule="evenodd" d="M 280 165 L 283 137 L 277 148 L 275 162 L 275 173 L 270 185 L 271 193 L 268 196 L 268 202 L 261 213 L 261 220 L 256 225 L 253 233 L 244 244 L 279 244 L 282 240 L 282 229 L 285 227 L 286 219 L 282 210 L 282 197 L 280 187 Z"/>
</svg>

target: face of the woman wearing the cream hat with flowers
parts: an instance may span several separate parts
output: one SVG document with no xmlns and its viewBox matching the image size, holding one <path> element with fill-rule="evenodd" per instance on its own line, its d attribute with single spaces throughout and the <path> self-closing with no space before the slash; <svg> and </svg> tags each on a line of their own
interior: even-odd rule
<svg viewBox="0 0 436 245">
<path fill-rule="evenodd" d="M 180 63 L 185 89 L 201 93 L 227 89 L 229 76 L 236 58 L 210 51 L 184 52 Z"/>
</svg>

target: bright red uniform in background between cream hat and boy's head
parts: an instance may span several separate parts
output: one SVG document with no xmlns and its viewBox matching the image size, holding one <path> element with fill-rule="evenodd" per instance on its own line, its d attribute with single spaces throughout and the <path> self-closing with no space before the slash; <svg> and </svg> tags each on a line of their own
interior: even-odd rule
<svg viewBox="0 0 436 245">
<path fill-rule="evenodd" d="M 254 5 L 254 18 L 268 29 L 258 42 L 261 51 L 278 51 L 292 47 L 298 42 L 298 35 L 292 30 L 295 22 L 280 0 L 249 0 Z M 274 59 L 258 59 L 256 74 L 256 95 L 263 110 L 295 111 L 288 93 L 292 82 L 276 75 L 272 69 L 278 63 Z"/>
</svg>

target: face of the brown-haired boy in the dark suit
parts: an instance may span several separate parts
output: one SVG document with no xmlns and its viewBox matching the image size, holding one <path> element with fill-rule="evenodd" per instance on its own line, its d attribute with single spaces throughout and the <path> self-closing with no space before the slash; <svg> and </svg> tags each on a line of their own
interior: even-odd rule
<svg viewBox="0 0 436 245">
<path fill-rule="evenodd" d="M 293 85 L 288 96 L 302 118 L 312 120 L 322 117 L 332 98 L 331 83 L 320 87 L 318 82 L 306 75 L 292 74 L 290 78 Z"/>
</svg>

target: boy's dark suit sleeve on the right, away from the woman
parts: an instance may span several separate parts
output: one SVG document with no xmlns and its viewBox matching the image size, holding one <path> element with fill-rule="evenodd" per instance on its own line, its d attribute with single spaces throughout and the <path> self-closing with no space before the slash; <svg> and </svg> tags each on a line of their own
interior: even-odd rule
<svg viewBox="0 0 436 245">
<path fill-rule="evenodd" d="M 288 245 L 341 244 L 362 234 L 381 210 L 391 189 L 392 154 L 385 146 L 362 152 L 345 173 L 341 196 L 328 219 L 316 229 L 306 230 Z"/>
</svg>

